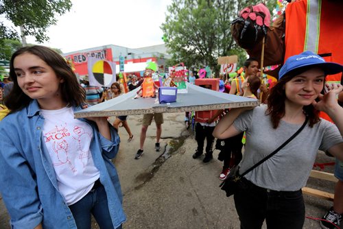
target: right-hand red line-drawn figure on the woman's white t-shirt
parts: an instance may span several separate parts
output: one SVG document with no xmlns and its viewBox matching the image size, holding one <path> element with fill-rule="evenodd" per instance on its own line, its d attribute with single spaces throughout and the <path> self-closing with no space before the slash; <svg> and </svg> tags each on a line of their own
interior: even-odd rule
<svg viewBox="0 0 343 229">
<path fill-rule="evenodd" d="M 79 144 L 79 149 L 80 149 L 80 156 L 79 159 L 82 162 L 82 165 L 84 165 L 84 167 L 87 165 L 88 162 L 88 158 L 91 156 L 91 151 L 89 150 L 89 145 L 87 145 L 86 143 L 90 143 L 91 142 L 91 134 L 86 133 L 84 131 L 84 128 L 81 128 L 78 125 L 74 126 L 74 133 L 77 134 L 77 138 L 73 137 L 76 141 L 78 141 Z"/>
</svg>

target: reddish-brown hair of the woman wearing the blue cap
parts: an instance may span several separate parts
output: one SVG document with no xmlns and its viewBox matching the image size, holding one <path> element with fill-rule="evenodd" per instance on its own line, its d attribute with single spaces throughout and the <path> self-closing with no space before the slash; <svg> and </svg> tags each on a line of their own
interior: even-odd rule
<svg viewBox="0 0 343 229">
<path fill-rule="evenodd" d="M 285 115 L 285 84 L 289 82 L 289 80 L 292 80 L 294 76 L 299 75 L 300 73 L 303 73 L 309 69 L 311 69 L 311 67 L 305 67 L 298 69 L 298 71 L 294 71 L 289 75 L 283 76 L 281 80 L 279 80 L 270 90 L 270 94 L 267 99 L 268 109 L 266 110 L 266 115 L 270 115 L 274 129 L 279 126 L 280 120 Z M 309 127 L 313 127 L 314 124 L 320 121 L 319 111 L 316 110 L 312 104 L 304 106 L 303 111 L 305 112 L 305 115 L 309 117 Z"/>
</svg>

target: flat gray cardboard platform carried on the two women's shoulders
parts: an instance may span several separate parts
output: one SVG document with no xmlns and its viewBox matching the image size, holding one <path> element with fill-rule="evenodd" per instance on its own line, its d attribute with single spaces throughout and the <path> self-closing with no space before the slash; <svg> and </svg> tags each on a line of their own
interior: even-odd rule
<svg viewBox="0 0 343 229">
<path fill-rule="evenodd" d="M 189 110 L 221 110 L 258 106 L 259 100 L 212 91 L 193 84 L 187 84 L 187 93 L 178 93 L 175 102 L 160 104 L 156 97 L 134 99 L 140 88 L 124 95 L 104 101 L 101 104 L 75 112 L 75 118 L 110 117 L 118 115 L 141 115 L 154 113 L 177 113 Z"/>
</svg>

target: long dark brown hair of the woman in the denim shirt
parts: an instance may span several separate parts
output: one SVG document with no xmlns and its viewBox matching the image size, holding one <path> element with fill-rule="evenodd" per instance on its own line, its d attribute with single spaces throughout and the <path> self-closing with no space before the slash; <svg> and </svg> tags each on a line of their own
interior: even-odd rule
<svg viewBox="0 0 343 229">
<path fill-rule="evenodd" d="M 80 106 L 84 103 L 85 92 L 78 83 L 75 73 L 67 64 L 59 53 L 48 47 L 34 45 L 31 47 L 23 47 L 13 53 L 10 61 L 10 77 L 13 80 L 13 88 L 10 94 L 5 98 L 5 105 L 12 112 L 16 112 L 27 107 L 33 99 L 27 96 L 19 87 L 16 73 L 14 72 L 14 59 L 23 54 L 31 53 L 38 56 L 41 60 L 47 63 L 51 69 L 54 70 L 57 77 L 64 81 L 60 84 L 62 99 L 66 101 L 69 106 Z"/>
</svg>

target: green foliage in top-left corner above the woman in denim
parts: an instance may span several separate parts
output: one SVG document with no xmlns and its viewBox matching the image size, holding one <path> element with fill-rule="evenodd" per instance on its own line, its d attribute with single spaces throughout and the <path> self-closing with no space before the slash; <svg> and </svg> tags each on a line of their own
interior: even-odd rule
<svg viewBox="0 0 343 229">
<path fill-rule="evenodd" d="M 49 38 L 45 35 L 50 25 L 56 24 L 56 16 L 71 9 L 71 0 L 1 0 L 0 15 L 14 26 L 23 26 L 24 36 L 34 36 L 38 43 Z M 0 40 L 19 39 L 13 27 L 0 21 Z"/>
</svg>

